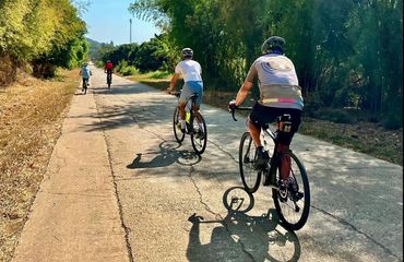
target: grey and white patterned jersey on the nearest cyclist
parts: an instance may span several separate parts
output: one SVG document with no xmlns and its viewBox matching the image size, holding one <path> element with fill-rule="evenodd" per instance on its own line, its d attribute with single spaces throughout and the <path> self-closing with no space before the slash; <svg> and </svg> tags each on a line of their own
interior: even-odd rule
<svg viewBox="0 0 404 262">
<path fill-rule="evenodd" d="M 246 81 L 252 83 L 257 78 L 261 105 L 302 110 L 301 88 L 295 66 L 287 57 L 277 53 L 259 57 L 252 63 Z"/>
</svg>

